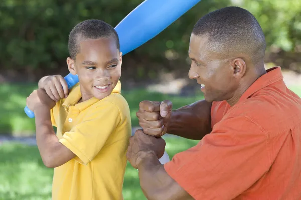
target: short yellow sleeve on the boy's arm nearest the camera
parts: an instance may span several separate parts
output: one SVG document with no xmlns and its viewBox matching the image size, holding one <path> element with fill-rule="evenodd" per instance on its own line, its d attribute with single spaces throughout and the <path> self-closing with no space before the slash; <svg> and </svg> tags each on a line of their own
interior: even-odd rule
<svg viewBox="0 0 301 200">
<path fill-rule="evenodd" d="M 76 154 L 76 161 L 86 165 L 99 153 L 121 120 L 119 108 L 104 101 L 70 132 L 65 132 L 60 142 Z"/>
</svg>

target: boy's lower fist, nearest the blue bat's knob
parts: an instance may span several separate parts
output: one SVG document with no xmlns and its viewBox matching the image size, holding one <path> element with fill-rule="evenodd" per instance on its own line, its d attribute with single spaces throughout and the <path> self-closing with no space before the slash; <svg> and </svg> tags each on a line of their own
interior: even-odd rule
<svg viewBox="0 0 301 200">
<path fill-rule="evenodd" d="M 27 107 L 35 112 L 41 106 L 47 107 L 49 110 L 55 106 L 55 102 L 47 95 L 44 89 L 34 90 L 29 97 L 26 98 Z"/>
</svg>

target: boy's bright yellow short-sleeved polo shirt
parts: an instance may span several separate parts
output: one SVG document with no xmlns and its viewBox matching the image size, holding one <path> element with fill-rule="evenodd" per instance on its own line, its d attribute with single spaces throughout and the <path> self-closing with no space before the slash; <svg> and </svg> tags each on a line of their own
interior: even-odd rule
<svg viewBox="0 0 301 200">
<path fill-rule="evenodd" d="M 52 199 L 123 199 L 130 110 L 118 82 L 110 96 L 78 103 L 79 85 L 51 111 L 59 141 L 76 157 L 54 169 Z"/>
</svg>

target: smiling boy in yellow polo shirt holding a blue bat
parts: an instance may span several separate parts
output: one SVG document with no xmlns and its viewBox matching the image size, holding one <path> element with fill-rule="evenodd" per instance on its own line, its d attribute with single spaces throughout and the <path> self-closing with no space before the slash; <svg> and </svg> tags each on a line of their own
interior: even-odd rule
<svg viewBox="0 0 301 200">
<path fill-rule="evenodd" d="M 52 199 L 122 199 L 131 118 L 120 95 L 118 35 L 86 20 L 71 31 L 68 48 L 79 83 L 68 94 L 62 76 L 46 76 L 27 98 L 42 160 L 54 168 Z"/>
</svg>

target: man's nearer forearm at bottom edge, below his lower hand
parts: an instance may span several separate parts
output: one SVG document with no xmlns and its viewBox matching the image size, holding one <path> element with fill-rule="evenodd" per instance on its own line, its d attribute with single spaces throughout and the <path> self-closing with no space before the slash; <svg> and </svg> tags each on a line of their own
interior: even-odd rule
<svg viewBox="0 0 301 200">
<path fill-rule="evenodd" d="M 138 164 L 140 185 L 148 200 L 193 199 L 167 174 L 155 153 L 145 152 L 141 157 Z"/>
</svg>

